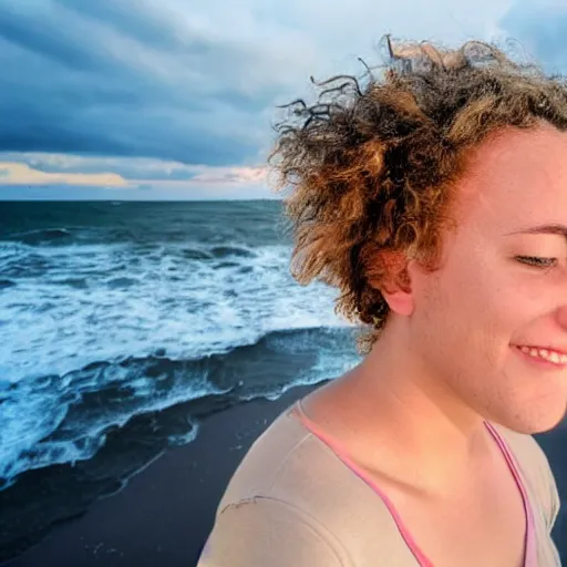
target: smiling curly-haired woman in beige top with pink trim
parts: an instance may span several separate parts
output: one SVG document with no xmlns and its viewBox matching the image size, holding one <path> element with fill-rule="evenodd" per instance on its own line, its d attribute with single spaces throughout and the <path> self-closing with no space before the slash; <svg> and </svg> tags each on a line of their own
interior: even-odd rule
<svg viewBox="0 0 567 567">
<path fill-rule="evenodd" d="M 272 156 L 293 274 L 340 290 L 364 358 L 254 444 L 200 567 L 559 565 L 532 434 L 567 402 L 567 86 L 388 42 L 364 87 L 293 103 Z"/>
</svg>

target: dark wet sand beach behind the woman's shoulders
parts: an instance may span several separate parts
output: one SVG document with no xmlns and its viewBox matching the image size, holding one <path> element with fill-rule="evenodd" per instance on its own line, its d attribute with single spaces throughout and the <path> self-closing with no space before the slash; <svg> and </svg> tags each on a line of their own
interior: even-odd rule
<svg viewBox="0 0 567 567">
<path fill-rule="evenodd" d="M 277 401 L 241 403 L 207 417 L 197 439 L 166 451 L 117 494 L 94 503 L 81 517 L 61 525 L 10 567 L 194 566 L 213 525 L 223 491 L 252 441 L 311 388 L 295 388 Z M 539 435 L 567 494 L 567 429 Z M 554 530 L 567 558 L 567 511 Z"/>
</svg>

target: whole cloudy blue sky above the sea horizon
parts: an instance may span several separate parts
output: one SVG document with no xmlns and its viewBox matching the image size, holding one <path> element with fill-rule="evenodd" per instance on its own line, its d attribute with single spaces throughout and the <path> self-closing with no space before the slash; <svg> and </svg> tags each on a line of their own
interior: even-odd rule
<svg viewBox="0 0 567 567">
<path fill-rule="evenodd" d="M 384 33 L 567 71 L 565 0 L 0 0 L 0 199 L 270 197 L 275 105 Z"/>
</svg>

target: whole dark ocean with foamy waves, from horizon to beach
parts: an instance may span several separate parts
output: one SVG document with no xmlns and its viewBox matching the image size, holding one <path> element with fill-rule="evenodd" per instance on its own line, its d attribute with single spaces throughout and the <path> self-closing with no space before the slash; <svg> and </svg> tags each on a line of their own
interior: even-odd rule
<svg viewBox="0 0 567 567">
<path fill-rule="evenodd" d="M 290 252 L 278 200 L 0 203 L 0 549 L 212 412 L 358 362 L 337 291 L 298 285 Z"/>
</svg>

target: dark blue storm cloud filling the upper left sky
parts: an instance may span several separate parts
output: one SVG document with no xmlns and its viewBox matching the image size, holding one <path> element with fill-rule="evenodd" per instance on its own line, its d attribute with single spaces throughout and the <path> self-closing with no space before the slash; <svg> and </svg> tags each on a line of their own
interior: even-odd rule
<svg viewBox="0 0 567 567">
<path fill-rule="evenodd" d="M 161 6 L 0 2 L 0 151 L 254 161 L 278 85 L 238 79 L 261 54 Z"/>
</svg>

